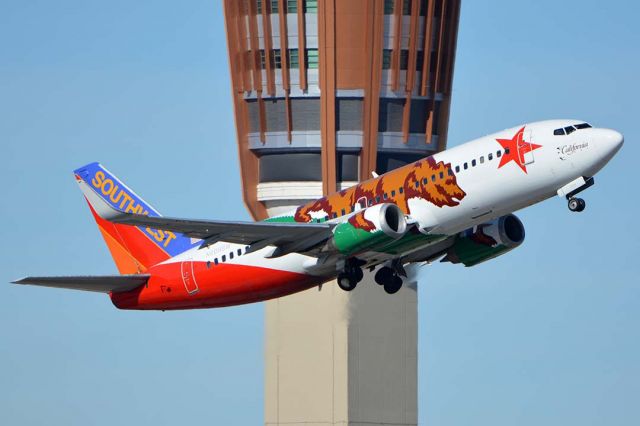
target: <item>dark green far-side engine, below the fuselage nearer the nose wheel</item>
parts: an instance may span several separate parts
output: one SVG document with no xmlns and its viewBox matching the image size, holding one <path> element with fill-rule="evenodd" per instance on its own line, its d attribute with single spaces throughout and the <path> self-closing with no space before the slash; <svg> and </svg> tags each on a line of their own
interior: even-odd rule
<svg viewBox="0 0 640 426">
<path fill-rule="evenodd" d="M 524 241 L 524 225 L 513 214 L 461 232 L 443 262 L 474 266 L 505 254 Z"/>
</svg>

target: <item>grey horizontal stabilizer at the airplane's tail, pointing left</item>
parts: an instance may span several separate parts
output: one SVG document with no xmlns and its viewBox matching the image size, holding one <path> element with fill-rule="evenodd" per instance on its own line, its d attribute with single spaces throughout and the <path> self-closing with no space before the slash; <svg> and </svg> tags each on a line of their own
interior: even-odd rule
<svg viewBox="0 0 640 426">
<path fill-rule="evenodd" d="M 148 274 L 135 275 L 102 275 L 75 277 L 25 277 L 13 284 L 30 284 L 44 287 L 67 288 L 71 290 L 96 291 L 99 293 L 119 293 L 133 290 L 146 284 Z"/>
</svg>

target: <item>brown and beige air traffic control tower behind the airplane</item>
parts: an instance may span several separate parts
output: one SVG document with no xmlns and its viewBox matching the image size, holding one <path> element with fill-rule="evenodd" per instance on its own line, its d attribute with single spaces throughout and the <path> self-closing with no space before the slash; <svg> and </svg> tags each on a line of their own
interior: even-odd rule
<svg viewBox="0 0 640 426">
<path fill-rule="evenodd" d="M 224 0 L 254 219 L 445 148 L 460 0 Z M 265 424 L 417 424 L 417 292 L 266 303 Z"/>
</svg>

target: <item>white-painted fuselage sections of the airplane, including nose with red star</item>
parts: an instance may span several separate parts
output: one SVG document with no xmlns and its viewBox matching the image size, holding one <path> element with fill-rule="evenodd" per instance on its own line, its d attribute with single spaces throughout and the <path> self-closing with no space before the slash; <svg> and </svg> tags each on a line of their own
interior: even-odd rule
<svg viewBox="0 0 640 426">
<path fill-rule="evenodd" d="M 572 125 L 583 128 L 575 129 Z M 587 126 L 579 120 L 530 123 L 435 154 L 436 162 L 451 165 L 458 186 L 466 195 L 451 207 L 410 199 L 409 217 L 424 233 L 455 235 L 559 194 L 559 190 L 576 179 L 592 177 L 623 143 L 622 135 L 614 130 Z M 562 134 L 554 134 L 559 130 Z M 329 222 L 343 222 L 348 216 Z M 229 259 L 228 254 L 238 250 L 243 254 Z M 315 257 L 293 253 L 270 259 L 266 256 L 273 247 L 246 254 L 244 250 L 243 245 L 219 242 L 206 249 L 189 250 L 167 262 L 221 262 L 221 256 L 226 254 L 226 263 L 316 273 Z M 326 273 L 320 270 L 321 274 Z"/>
</svg>

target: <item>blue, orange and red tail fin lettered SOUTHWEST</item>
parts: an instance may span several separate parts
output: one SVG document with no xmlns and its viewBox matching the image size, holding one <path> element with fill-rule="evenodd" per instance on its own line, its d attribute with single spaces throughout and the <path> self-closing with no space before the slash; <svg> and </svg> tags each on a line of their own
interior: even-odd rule
<svg viewBox="0 0 640 426">
<path fill-rule="evenodd" d="M 89 201 L 92 197 L 87 196 L 87 191 L 93 191 L 114 208 L 125 212 L 149 216 L 160 216 L 160 213 L 100 163 L 87 164 L 74 170 L 74 174 L 121 274 L 142 273 L 198 244 L 199 240 L 182 234 L 113 224 L 100 218 Z"/>
</svg>

